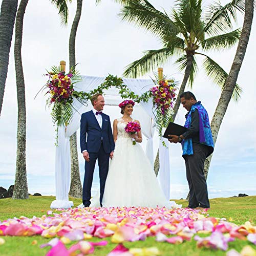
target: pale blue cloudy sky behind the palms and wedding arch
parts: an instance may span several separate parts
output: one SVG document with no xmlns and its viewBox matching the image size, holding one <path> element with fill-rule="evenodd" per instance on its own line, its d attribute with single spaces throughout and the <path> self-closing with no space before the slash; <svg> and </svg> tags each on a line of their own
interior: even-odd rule
<svg viewBox="0 0 256 256">
<path fill-rule="evenodd" d="M 221 3 L 226 2 L 221 1 Z M 159 9 L 164 8 L 168 11 L 174 1 L 153 0 L 151 3 Z M 70 20 L 74 17 L 75 7 L 74 4 L 70 6 Z M 121 76 L 124 67 L 140 58 L 144 50 L 161 47 L 159 41 L 150 33 L 121 22 L 117 17 L 118 10 L 119 6 L 110 0 L 102 1 L 99 6 L 95 6 L 94 1 L 83 3 L 76 40 L 76 61 L 79 63 L 78 69 L 81 74 L 108 76 L 110 73 Z M 46 98 L 42 94 L 39 94 L 36 99 L 34 97 L 46 82 L 46 77 L 42 76 L 46 73 L 45 70 L 58 65 L 62 59 L 68 61 L 71 22 L 68 27 L 61 27 L 59 24 L 57 11 L 51 6 L 50 1 L 29 2 L 24 22 L 23 68 L 27 105 L 27 173 L 31 194 L 38 192 L 43 195 L 55 195 L 54 127 L 50 110 L 45 107 Z M 240 17 L 238 26 L 241 24 Z M 210 198 L 229 197 L 239 193 L 256 195 L 256 133 L 254 131 L 256 114 L 253 105 L 256 95 L 253 47 L 255 39 L 254 22 L 248 50 L 238 78 L 238 83 L 243 88 L 243 95 L 238 103 L 230 102 L 212 157 L 207 180 Z M 17 99 L 13 45 L 0 117 L 0 186 L 6 188 L 14 184 L 16 161 Z M 235 52 L 236 48 L 221 53 L 210 52 L 209 55 L 229 71 Z M 200 58 L 198 61 L 200 63 Z M 178 81 L 182 79 L 182 74 L 174 66 L 174 59 L 166 63 L 163 68 L 168 76 L 173 76 Z M 191 91 L 195 93 L 198 100 L 202 101 L 211 119 L 221 91 L 207 79 L 200 65 Z M 116 111 L 119 112 L 117 107 L 107 107 L 104 111 L 110 117 Z M 185 110 L 179 110 L 177 123 L 184 124 L 185 113 Z M 156 153 L 157 137 L 154 138 L 154 143 Z M 142 146 L 145 147 L 145 140 Z M 180 145 L 170 146 L 170 156 L 170 194 L 174 199 L 184 198 L 188 192 L 188 186 Z M 83 178 L 84 163 L 80 154 L 79 163 L 81 178 Z M 96 170 L 93 189 L 97 187 Z"/>
</svg>

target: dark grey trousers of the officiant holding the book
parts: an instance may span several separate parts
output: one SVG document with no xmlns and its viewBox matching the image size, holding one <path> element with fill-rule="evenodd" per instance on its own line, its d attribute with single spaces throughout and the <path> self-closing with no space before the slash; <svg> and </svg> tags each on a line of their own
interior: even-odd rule
<svg viewBox="0 0 256 256">
<path fill-rule="evenodd" d="M 184 155 L 186 176 L 189 186 L 188 207 L 197 206 L 209 208 L 207 184 L 204 177 L 204 161 L 209 152 L 206 145 L 193 143 L 194 155 Z"/>
</svg>

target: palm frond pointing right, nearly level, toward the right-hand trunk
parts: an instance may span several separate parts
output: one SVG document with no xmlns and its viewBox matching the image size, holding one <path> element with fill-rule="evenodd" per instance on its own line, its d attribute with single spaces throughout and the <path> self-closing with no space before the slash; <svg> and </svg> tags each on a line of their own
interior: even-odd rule
<svg viewBox="0 0 256 256">
<path fill-rule="evenodd" d="M 222 35 L 212 36 L 202 41 L 202 47 L 205 51 L 229 49 L 239 41 L 240 34 L 241 29 L 236 29 Z"/>
</svg>

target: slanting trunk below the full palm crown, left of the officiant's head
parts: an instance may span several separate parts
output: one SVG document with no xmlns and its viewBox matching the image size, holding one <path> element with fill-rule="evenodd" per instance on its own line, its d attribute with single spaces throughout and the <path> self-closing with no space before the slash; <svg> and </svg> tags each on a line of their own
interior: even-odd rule
<svg viewBox="0 0 256 256">
<path fill-rule="evenodd" d="M 188 80 L 190 72 L 191 72 L 192 63 L 193 63 L 193 54 L 187 53 L 186 69 L 185 69 L 184 77 L 183 77 L 183 80 L 182 80 L 182 83 L 181 83 L 181 86 L 180 86 L 180 90 L 179 90 L 179 93 L 177 95 L 177 99 L 176 99 L 176 102 L 175 102 L 175 105 L 174 105 L 174 113 L 173 113 L 173 116 L 172 116 L 173 121 L 175 120 L 175 117 L 176 117 L 176 115 L 178 113 L 178 110 L 180 108 L 180 95 L 185 90 L 187 80 Z M 156 176 L 158 175 L 159 167 L 160 167 L 160 164 L 159 164 L 159 149 L 158 149 L 156 159 L 155 159 L 155 162 L 154 162 L 154 172 L 155 172 Z"/>
</svg>

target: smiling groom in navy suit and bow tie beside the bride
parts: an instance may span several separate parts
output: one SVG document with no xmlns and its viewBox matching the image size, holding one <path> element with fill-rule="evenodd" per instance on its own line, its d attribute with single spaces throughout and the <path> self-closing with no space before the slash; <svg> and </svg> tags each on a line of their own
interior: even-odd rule
<svg viewBox="0 0 256 256">
<path fill-rule="evenodd" d="M 102 94 L 91 98 L 93 110 L 83 113 L 80 124 L 80 146 L 86 160 L 82 189 L 82 203 L 90 206 L 91 188 L 96 160 L 99 165 L 100 205 L 104 194 L 106 176 L 109 172 L 109 158 L 115 148 L 110 117 L 102 113 L 105 101 Z"/>
</svg>

